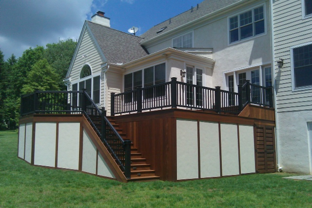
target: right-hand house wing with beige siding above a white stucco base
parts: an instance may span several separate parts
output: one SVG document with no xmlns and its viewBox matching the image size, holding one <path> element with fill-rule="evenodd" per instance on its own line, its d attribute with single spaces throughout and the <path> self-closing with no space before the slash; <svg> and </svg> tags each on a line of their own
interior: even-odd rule
<svg viewBox="0 0 312 208">
<path fill-rule="evenodd" d="M 311 174 L 312 1 L 272 4 L 277 157 L 284 171 Z"/>
</svg>

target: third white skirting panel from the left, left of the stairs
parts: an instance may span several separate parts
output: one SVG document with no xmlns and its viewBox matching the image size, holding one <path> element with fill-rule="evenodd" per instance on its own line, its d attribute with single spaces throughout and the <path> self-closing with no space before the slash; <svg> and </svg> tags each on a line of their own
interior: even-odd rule
<svg viewBox="0 0 312 208">
<path fill-rule="evenodd" d="M 35 165 L 55 167 L 56 122 L 36 122 Z"/>
</svg>

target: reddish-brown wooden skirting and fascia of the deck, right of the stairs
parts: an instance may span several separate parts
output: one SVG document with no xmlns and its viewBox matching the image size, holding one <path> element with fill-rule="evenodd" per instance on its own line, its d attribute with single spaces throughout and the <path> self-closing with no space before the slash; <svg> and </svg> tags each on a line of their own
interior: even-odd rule
<svg viewBox="0 0 312 208">
<path fill-rule="evenodd" d="M 127 132 L 135 147 L 151 164 L 151 168 L 156 170 L 156 175 L 160 176 L 160 180 L 177 181 L 176 120 L 275 126 L 274 109 L 257 106 L 246 108 L 248 109 L 246 112 L 252 113 L 234 116 L 172 108 L 115 116 L 114 119 Z"/>
</svg>

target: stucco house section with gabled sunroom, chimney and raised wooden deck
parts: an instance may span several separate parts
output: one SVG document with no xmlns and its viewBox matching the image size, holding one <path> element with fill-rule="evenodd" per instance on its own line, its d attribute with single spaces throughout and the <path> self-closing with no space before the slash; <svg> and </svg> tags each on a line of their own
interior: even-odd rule
<svg viewBox="0 0 312 208">
<path fill-rule="evenodd" d="M 22 97 L 18 156 L 124 182 L 276 172 L 271 11 L 204 0 L 139 37 L 98 12 L 68 91 Z"/>
</svg>

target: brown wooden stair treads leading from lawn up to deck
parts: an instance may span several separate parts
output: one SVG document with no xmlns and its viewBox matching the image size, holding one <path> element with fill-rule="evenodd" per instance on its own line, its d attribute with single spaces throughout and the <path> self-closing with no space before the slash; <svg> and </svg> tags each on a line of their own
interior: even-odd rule
<svg viewBox="0 0 312 208">
<path fill-rule="evenodd" d="M 107 117 L 108 121 L 114 126 L 118 134 L 124 140 L 129 140 L 126 134 L 115 122 L 114 117 Z M 138 152 L 134 144 L 131 143 L 131 179 L 128 181 L 151 181 L 159 180 L 159 176 L 155 175 L 155 170 L 151 170 L 151 165 L 146 163 L 146 159 L 142 157 L 142 154 Z"/>
</svg>

